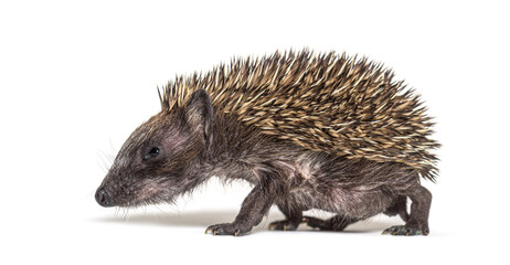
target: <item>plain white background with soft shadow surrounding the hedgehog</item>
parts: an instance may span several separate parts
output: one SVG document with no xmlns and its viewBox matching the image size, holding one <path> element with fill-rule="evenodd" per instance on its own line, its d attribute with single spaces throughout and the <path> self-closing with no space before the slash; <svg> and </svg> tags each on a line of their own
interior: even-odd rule
<svg viewBox="0 0 510 265">
<path fill-rule="evenodd" d="M 183 1 L 182 1 L 183 2 Z M 504 1 L 1 1 L 1 264 L 508 264 Z M 209 183 L 177 205 L 94 201 L 108 157 L 159 110 L 157 86 L 232 56 L 308 46 L 368 55 L 417 88 L 444 147 L 431 235 L 203 234 L 249 191 Z"/>
</svg>

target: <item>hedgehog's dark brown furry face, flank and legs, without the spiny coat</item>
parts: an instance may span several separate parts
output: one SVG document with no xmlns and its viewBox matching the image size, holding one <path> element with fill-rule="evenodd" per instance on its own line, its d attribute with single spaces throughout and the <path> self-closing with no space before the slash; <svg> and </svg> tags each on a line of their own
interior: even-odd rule
<svg viewBox="0 0 510 265">
<path fill-rule="evenodd" d="M 158 155 L 148 156 L 155 148 Z M 134 131 L 96 200 L 104 206 L 171 202 L 211 177 L 242 179 L 254 188 L 238 215 L 208 232 L 248 233 L 276 204 L 286 220 L 273 223 L 275 230 L 296 230 L 307 222 L 341 231 L 352 222 L 386 213 L 400 214 L 406 225 L 385 232 L 428 234 L 432 195 L 419 184 L 421 173 L 406 163 L 311 150 L 264 134 L 236 115 L 219 112 L 209 93 L 196 89 L 181 106 L 163 108 Z M 411 214 L 405 210 L 406 198 L 413 202 Z M 302 211 L 309 209 L 337 215 L 326 221 L 304 218 Z"/>
</svg>

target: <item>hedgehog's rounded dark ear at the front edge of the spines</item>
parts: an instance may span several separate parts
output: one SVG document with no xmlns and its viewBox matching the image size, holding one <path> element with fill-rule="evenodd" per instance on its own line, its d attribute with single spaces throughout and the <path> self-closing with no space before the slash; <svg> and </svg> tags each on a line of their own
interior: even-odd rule
<svg viewBox="0 0 510 265">
<path fill-rule="evenodd" d="M 201 130 L 204 134 L 205 142 L 211 142 L 214 109 L 211 97 L 204 89 L 193 92 L 184 105 L 184 115 L 187 123 L 194 130 Z"/>
</svg>

